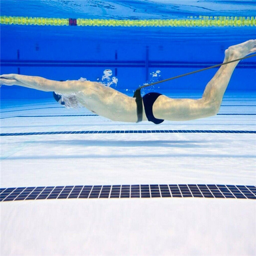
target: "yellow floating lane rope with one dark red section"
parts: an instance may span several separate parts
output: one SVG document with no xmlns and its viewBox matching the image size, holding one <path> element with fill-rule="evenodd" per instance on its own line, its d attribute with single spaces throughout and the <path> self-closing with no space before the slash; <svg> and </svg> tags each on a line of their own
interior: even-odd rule
<svg viewBox="0 0 256 256">
<path fill-rule="evenodd" d="M 256 16 L 188 16 L 187 19 L 74 19 L 0 16 L 2 25 L 89 26 L 89 27 L 253 27 Z"/>
</svg>

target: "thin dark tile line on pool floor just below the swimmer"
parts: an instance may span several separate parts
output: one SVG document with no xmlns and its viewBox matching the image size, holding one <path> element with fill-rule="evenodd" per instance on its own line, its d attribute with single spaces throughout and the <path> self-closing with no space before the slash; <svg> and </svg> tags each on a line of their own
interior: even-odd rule
<svg viewBox="0 0 256 256">
<path fill-rule="evenodd" d="M 0 133 L 0 136 L 27 136 L 27 135 L 49 135 L 49 134 L 89 134 L 89 133 L 256 133 L 256 131 L 236 130 L 129 130 L 129 131 L 62 131 L 62 132 L 16 132 Z"/>
</svg>

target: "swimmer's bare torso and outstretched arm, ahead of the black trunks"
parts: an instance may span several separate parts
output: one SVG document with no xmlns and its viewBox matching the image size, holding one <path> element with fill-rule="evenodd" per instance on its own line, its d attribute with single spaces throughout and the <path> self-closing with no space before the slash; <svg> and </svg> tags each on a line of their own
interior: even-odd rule
<svg viewBox="0 0 256 256">
<path fill-rule="evenodd" d="M 81 92 L 81 104 L 100 116 L 123 122 L 136 122 L 138 119 L 135 98 L 98 82 L 77 80 L 60 82 L 40 76 L 7 74 L 0 76 L 0 84 L 20 85 L 40 91 L 64 94 Z M 144 110 L 143 120 L 147 120 Z"/>
</svg>

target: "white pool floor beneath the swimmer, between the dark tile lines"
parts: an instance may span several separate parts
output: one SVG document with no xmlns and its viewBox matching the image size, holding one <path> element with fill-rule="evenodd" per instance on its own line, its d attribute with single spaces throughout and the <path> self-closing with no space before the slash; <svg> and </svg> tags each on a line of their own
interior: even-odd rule
<svg viewBox="0 0 256 256">
<path fill-rule="evenodd" d="M 253 100 L 252 95 L 226 96 L 220 113 L 255 113 Z M 16 105 L 2 103 L 1 117 L 91 114 L 55 108 L 60 105 L 54 101 Z M 31 108 L 41 109 L 26 110 Z M 156 129 L 255 130 L 255 116 L 219 115 L 160 125 L 99 116 L 1 119 L 1 133 Z M 1 187 L 255 185 L 255 152 L 255 134 L 8 136 L 1 137 Z M 254 255 L 255 213 L 249 199 L 3 202 L 1 255 Z"/>
</svg>

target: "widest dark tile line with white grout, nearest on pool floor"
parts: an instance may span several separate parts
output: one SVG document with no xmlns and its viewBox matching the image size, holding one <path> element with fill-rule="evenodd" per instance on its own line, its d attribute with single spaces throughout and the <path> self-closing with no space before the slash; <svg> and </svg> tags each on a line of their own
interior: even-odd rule
<svg viewBox="0 0 256 256">
<path fill-rule="evenodd" d="M 141 184 L 0 188 L 0 202 L 69 198 L 205 197 L 256 199 L 256 186 Z"/>
</svg>

